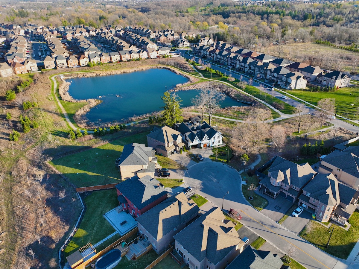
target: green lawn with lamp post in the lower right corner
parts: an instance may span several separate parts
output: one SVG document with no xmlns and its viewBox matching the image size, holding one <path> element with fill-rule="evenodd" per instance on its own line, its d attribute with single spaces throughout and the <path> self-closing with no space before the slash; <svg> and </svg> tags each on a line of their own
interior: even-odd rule
<svg viewBox="0 0 359 269">
<path fill-rule="evenodd" d="M 328 248 L 325 246 L 330 236 L 328 232 L 329 229 L 315 221 L 312 222 L 314 227 L 313 231 L 307 235 L 304 228 L 302 232 L 300 232 L 300 236 L 333 256 L 347 259 L 350 251 L 359 239 L 359 211 L 355 210 L 353 215 L 351 215 L 349 219 L 351 227 L 348 231 L 345 231 L 345 229 L 334 223 L 332 224 L 331 227 L 334 227 L 334 231 Z"/>
</svg>

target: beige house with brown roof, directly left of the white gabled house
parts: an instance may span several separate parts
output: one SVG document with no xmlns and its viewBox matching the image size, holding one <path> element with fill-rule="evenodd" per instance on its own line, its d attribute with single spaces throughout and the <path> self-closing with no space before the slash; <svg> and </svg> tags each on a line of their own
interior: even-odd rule
<svg viewBox="0 0 359 269">
<path fill-rule="evenodd" d="M 148 146 L 154 148 L 157 153 L 165 157 L 171 156 L 174 151 L 179 152 L 185 145 L 182 142 L 181 133 L 168 126 L 163 126 L 162 128 L 155 127 L 146 136 Z"/>
</svg>

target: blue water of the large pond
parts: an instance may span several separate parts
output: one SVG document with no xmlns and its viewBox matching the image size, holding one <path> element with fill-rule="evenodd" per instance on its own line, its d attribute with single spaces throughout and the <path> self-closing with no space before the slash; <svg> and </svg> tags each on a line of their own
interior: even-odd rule
<svg viewBox="0 0 359 269">
<path fill-rule="evenodd" d="M 67 81 L 71 81 L 69 94 L 73 98 L 103 101 L 86 114 L 91 122 L 112 122 L 161 110 L 163 93 L 178 83 L 187 82 L 187 78 L 167 69 L 149 69 L 117 75 L 71 78 Z M 183 100 L 182 107 L 187 107 L 191 106 L 191 98 L 198 91 L 176 93 Z M 229 97 L 221 103 L 222 107 L 240 105 Z"/>
</svg>

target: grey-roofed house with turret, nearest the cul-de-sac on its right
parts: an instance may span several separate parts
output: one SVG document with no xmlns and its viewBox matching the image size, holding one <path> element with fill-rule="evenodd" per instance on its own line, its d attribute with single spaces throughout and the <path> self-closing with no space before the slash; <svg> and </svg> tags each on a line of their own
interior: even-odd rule
<svg viewBox="0 0 359 269">
<path fill-rule="evenodd" d="M 260 182 L 260 191 L 272 198 L 278 195 L 294 202 L 304 186 L 310 182 L 316 172 L 309 163 L 299 165 L 276 156 L 257 171 L 266 170 L 268 175 Z"/>
</svg>

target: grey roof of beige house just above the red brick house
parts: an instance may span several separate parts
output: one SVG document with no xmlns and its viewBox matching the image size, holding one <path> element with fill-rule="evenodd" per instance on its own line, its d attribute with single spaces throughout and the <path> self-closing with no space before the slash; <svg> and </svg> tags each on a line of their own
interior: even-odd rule
<svg viewBox="0 0 359 269">
<path fill-rule="evenodd" d="M 154 150 L 144 144 L 127 144 L 123 147 L 120 162 L 121 165 L 147 165 L 149 157 L 154 157 Z"/>
</svg>

